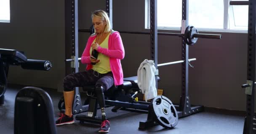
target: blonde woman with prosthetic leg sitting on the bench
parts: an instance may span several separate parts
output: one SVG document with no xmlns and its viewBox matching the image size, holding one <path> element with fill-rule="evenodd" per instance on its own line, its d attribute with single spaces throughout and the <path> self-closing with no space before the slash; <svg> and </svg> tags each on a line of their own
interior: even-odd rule
<svg viewBox="0 0 256 134">
<path fill-rule="evenodd" d="M 95 84 L 95 93 L 101 107 L 102 122 L 99 132 L 109 132 L 110 123 L 104 111 L 104 91 L 113 85 L 123 84 L 121 59 L 124 47 L 119 32 L 111 29 L 109 17 L 103 10 L 96 10 L 91 15 L 95 32 L 89 37 L 81 62 L 87 64 L 86 70 L 67 75 L 64 78 L 65 113 L 56 121 L 56 125 L 73 124 L 72 103 L 75 87 Z M 91 57 L 93 52 L 94 54 Z"/>
</svg>

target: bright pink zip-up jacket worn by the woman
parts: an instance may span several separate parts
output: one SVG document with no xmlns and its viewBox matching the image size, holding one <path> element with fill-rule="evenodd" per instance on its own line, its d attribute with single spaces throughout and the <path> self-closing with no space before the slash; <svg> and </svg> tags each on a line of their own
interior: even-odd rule
<svg viewBox="0 0 256 134">
<path fill-rule="evenodd" d="M 89 37 L 81 57 L 81 62 L 83 64 L 87 64 L 86 70 L 90 70 L 92 68 L 90 60 L 90 48 L 95 38 L 95 33 Z M 111 31 L 109 35 L 108 49 L 99 46 L 97 51 L 109 57 L 110 68 L 113 73 L 115 85 L 123 84 L 123 69 L 121 59 L 125 57 L 125 50 L 120 33 L 117 31 Z"/>
</svg>

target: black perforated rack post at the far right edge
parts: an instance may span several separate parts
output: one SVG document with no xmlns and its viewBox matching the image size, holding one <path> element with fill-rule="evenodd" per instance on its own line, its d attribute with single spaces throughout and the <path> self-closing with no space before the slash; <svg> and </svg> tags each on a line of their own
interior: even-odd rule
<svg viewBox="0 0 256 134">
<path fill-rule="evenodd" d="M 246 116 L 243 134 L 256 133 L 255 105 L 255 49 L 256 49 L 256 0 L 230 1 L 230 5 L 248 5 L 247 84 L 242 85 L 246 94 Z"/>
</svg>

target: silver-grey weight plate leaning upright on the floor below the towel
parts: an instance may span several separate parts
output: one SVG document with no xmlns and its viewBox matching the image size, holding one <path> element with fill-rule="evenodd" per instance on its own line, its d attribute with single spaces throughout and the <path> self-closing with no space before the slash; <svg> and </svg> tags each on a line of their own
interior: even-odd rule
<svg viewBox="0 0 256 134">
<path fill-rule="evenodd" d="M 173 103 L 165 96 L 157 96 L 149 106 L 154 119 L 164 128 L 173 128 L 178 124 L 178 113 Z"/>
</svg>

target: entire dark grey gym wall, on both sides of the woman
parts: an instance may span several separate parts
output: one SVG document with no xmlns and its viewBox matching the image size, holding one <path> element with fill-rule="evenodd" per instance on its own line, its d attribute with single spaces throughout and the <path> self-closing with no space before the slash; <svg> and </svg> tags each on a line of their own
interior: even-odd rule
<svg viewBox="0 0 256 134">
<path fill-rule="evenodd" d="M 91 12 L 105 9 L 104 0 L 79 1 L 79 28 L 91 26 Z M 125 6 L 124 6 L 125 5 Z M 144 30 L 144 0 L 113 0 L 113 26 L 117 31 Z M 161 30 L 160 30 L 161 31 Z M 163 31 L 163 30 L 162 30 Z M 176 32 L 180 31 L 167 31 Z M 189 58 L 197 58 L 189 67 L 189 96 L 192 104 L 232 110 L 245 110 L 247 34 L 222 34 L 223 39 L 198 39 L 189 46 Z M 47 59 L 53 63 L 48 71 L 22 70 L 10 67 L 8 81 L 62 90 L 64 77 L 65 34 L 64 0 L 11 0 L 11 23 L 0 23 L 1 48 L 24 51 L 29 59 Z M 81 56 L 89 33 L 79 33 Z M 125 77 L 135 76 L 139 64 L 150 57 L 149 35 L 121 33 L 125 47 L 122 66 Z M 181 60 L 181 39 L 158 36 L 158 64 Z M 80 64 L 80 71 L 86 65 Z M 158 88 L 179 103 L 181 64 L 159 67 Z"/>
</svg>

